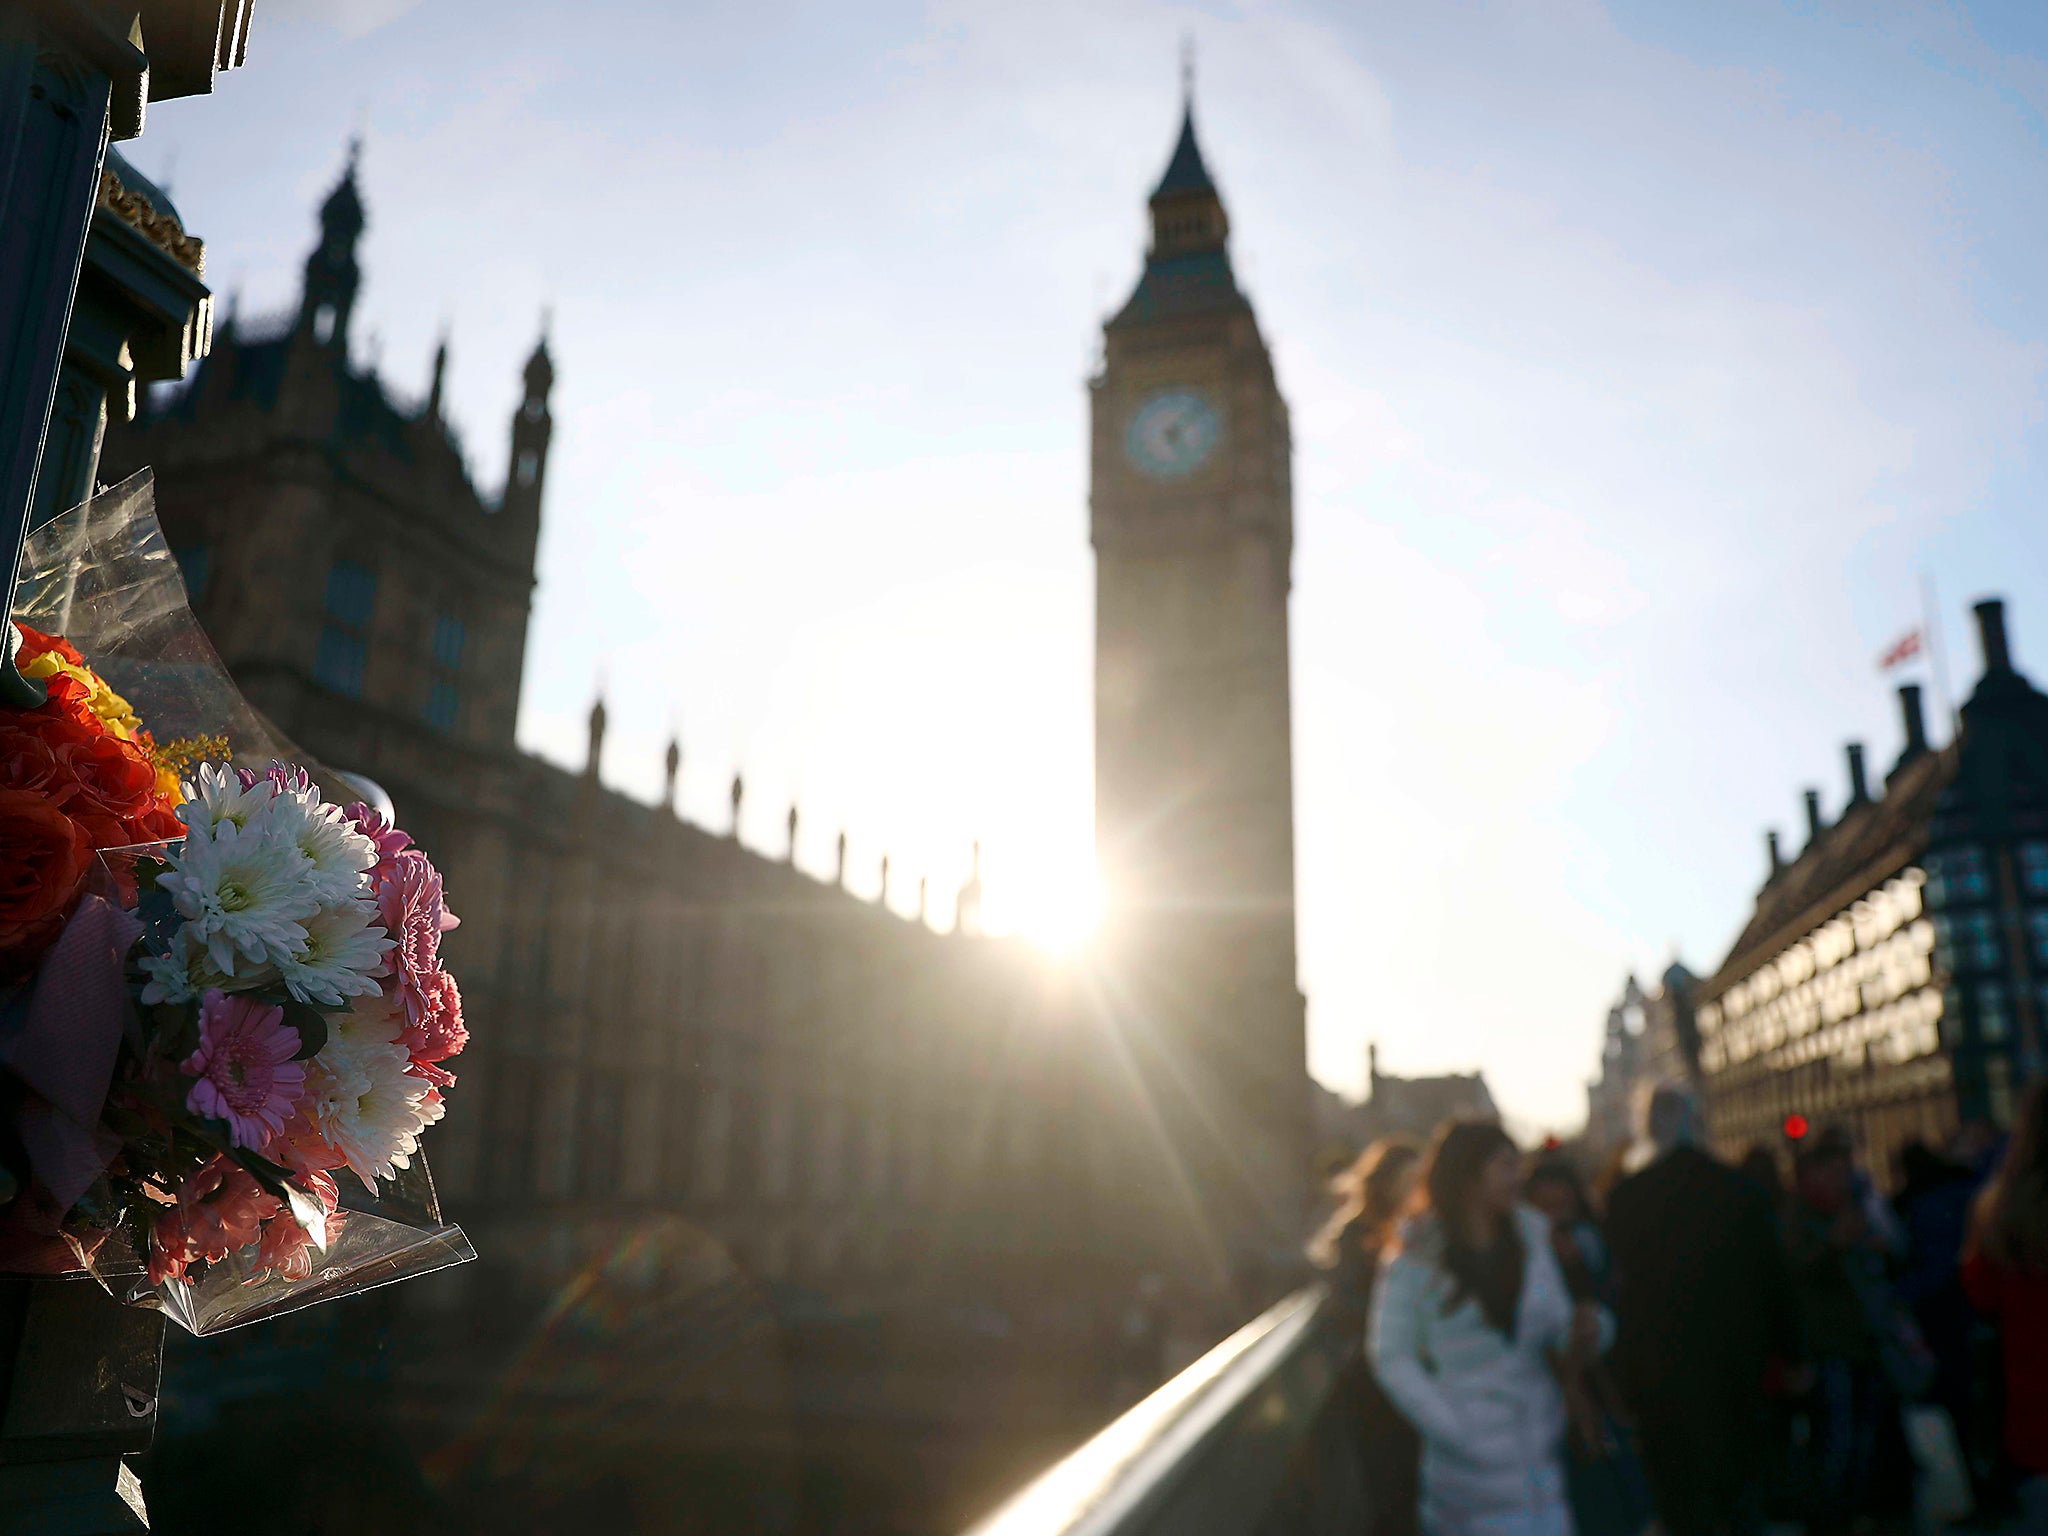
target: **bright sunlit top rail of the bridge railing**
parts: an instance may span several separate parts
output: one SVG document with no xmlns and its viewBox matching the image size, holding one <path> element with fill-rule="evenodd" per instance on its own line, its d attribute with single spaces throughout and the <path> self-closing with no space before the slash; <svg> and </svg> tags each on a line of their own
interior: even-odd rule
<svg viewBox="0 0 2048 1536">
<path fill-rule="evenodd" d="M 1210 1450 L 1262 1409 L 1272 1386 L 1327 1346 L 1327 1292 L 1307 1286 L 1245 1323 L 1151 1397 L 1055 1462 L 969 1536 L 1137 1536 Z M 1327 1393 L 1333 1370 L 1321 1372 Z M 1300 1421 L 1303 1415 L 1290 1415 Z"/>
</svg>

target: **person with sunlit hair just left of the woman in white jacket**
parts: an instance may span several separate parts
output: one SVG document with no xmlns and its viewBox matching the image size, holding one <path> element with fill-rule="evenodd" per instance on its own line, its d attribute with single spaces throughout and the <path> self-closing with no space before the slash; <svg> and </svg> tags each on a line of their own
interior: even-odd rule
<svg viewBox="0 0 2048 1536">
<path fill-rule="evenodd" d="M 1421 1176 L 1421 1149 L 1407 1137 L 1382 1137 L 1335 1180 L 1337 1212 L 1309 1245 L 1309 1257 L 1329 1274 L 1337 1327 L 1364 1341 L 1372 1317 L 1382 1255 L 1407 1214 Z M 1360 1356 L 1343 1374 L 1339 1395 L 1352 1403 L 1358 1432 L 1360 1497 L 1366 1536 L 1413 1536 L 1421 1475 L 1421 1442 L 1386 1399 L 1372 1366 Z"/>
</svg>

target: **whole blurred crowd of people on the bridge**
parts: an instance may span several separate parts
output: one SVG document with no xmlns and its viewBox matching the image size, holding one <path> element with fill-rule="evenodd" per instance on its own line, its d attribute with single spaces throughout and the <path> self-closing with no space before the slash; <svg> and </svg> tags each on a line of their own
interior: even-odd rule
<svg viewBox="0 0 2048 1536">
<path fill-rule="evenodd" d="M 1386 1139 L 1317 1239 L 1368 1536 L 2048 1536 L 2048 1083 L 2007 1139 L 1706 1151 L 1659 1087 L 1595 1188 L 1493 1122 Z M 1931 1499 L 1931 1481 L 1944 1497 Z"/>
</svg>

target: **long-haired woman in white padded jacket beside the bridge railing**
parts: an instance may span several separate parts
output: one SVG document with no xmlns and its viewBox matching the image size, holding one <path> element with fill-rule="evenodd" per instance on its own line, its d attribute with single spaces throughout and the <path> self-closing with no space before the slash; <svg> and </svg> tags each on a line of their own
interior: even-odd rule
<svg viewBox="0 0 2048 1536">
<path fill-rule="evenodd" d="M 1446 1126 L 1423 1182 L 1368 1325 L 1372 1370 L 1421 1434 L 1421 1530 L 1571 1536 L 1552 1358 L 1604 1348 L 1612 1323 L 1573 1307 L 1505 1130 Z"/>
</svg>

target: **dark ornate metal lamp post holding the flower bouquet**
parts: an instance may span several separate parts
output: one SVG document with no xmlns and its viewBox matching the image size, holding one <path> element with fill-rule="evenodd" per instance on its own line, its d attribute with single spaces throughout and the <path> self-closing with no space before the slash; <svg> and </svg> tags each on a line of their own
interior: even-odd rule
<svg viewBox="0 0 2048 1536">
<path fill-rule="evenodd" d="M 92 492 L 106 412 L 207 350 L 199 246 L 115 164 L 152 100 L 242 63 L 252 0 L 0 6 L 0 600 L 23 541 Z M 0 705 L 33 709 L 0 627 Z M 0 1077 L 0 1100 L 6 1096 Z M 0 1167 L 0 1186 L 8 1184 Z M 0 1202 L 12 1198 L 0 1188 Z M 8 1532 L 147 1530 L 123 1456 L 156 1423 L 164 1321 L 90 1280 L 0 1282 L 0 1513 Z"/>
</svg>

